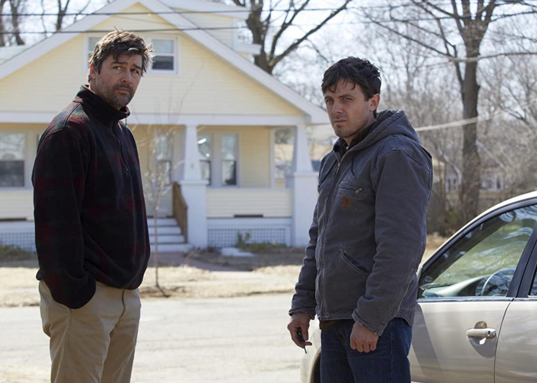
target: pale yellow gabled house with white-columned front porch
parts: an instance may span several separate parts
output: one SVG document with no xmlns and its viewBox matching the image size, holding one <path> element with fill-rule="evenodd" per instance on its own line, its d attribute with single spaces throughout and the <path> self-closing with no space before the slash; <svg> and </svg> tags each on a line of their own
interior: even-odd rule
<svg viewBox="0 0 537 383">
<path fill-rule="evenodd" d="M 241 44 L 234 28 L 247 17 L 244 8 L 200 0 L 117 0 L 64 30 L 72 33 L 25 50 L 0 49 L 0 220 L 33 219 L 31 172 L 40 134 L 87 82 L 95 42 L 123 28 L 156 50 L 129 105 L 128 125 L 144 183 L 151 140 L 169 169 L 173 187 L 158 215 L 174 217 L 186 241 L 201 248 L 233 245 L 245 231 L 258 242 L 307 244 L 317 198 L 307 127 L 327 118 L 252 64 L 260 47 Z M 279 188 L 274 131 L 283 127 L 295 137 L 287 187 Z M 3 231 L 16 225 L 31 222 L 4 222 Z"/>
</svg>

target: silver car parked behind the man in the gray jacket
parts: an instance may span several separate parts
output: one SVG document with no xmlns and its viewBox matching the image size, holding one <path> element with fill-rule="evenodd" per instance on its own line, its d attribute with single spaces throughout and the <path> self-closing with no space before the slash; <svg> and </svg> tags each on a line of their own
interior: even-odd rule
<svg viewBox="0 0 537 383">
<path fill-rule="evenodd" d="M 536 227 L 532 192 L 477 216 L 420 266 L 412 382 L 537 381 Z M 320 383 L 312 324 L 303 383 Z"/>
</svg>

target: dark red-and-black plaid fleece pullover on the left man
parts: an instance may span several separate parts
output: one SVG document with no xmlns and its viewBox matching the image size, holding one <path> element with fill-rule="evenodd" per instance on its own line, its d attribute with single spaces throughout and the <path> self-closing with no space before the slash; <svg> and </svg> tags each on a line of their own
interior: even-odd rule
<svg viewBox="0 0 537 383">
<path fill-rule="evenodd" d="M 133 290 L 149 261 L 140 161 L 132 133 L 84 85 L 39 142 L 32 173 L 37 279 L 55 301 L 84 306 L 95 281 Z"/>
</svg>

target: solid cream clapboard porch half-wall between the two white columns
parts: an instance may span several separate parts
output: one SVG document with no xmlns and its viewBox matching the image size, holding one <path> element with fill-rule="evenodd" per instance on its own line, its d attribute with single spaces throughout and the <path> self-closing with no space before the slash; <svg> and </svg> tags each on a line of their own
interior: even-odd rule
<svg viewBox="0 0 537 383">
<path fill-rule="evenodd" d="M 207 187 L 207 218 L 293 216 L 291 189 L 211 189 Z"/>
</svg>

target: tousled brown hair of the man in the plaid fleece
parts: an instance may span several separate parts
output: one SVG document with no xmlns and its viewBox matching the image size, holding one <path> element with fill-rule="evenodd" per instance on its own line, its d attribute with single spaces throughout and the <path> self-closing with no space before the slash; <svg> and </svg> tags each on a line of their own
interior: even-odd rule
<svg viewBox="0 0 537 383">
<path fill-rule="evenodd" d="M 142 76 L 147 72 L 149 63 L 153 61 L 155 56 L 153 46 L 146 44 L 140 36 L 132 32 L 116 30 L 97 41 L 88 62 L 93 64 L 93 68 L 97 69 L 97 73 L 100 73 L 106 57 L 112 55 L 114 60 L 118 60 L 118 57 L 124 54 L 129 56 L 139 54 L 142 56 Z M 91 75 L 88 73 L 88 81 L 90 80 Z"/>
</svg>

